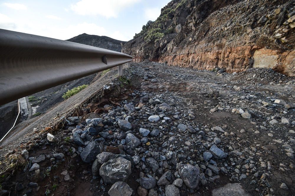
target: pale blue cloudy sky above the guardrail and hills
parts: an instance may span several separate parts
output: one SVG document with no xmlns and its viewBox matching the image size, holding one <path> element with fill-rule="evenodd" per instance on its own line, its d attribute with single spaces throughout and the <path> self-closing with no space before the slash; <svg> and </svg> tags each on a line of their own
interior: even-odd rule
<svg viewBox="0 0 295 196">
<path fill-rule="evenodd" d="M 171 0 L 0 0 L 0 29 L 70 39 L 82 33 L 129 41 Z"/>
</svg>

